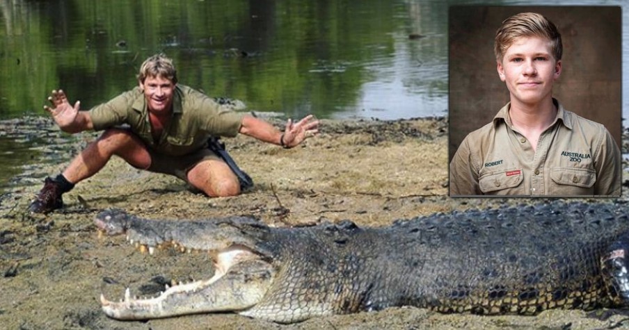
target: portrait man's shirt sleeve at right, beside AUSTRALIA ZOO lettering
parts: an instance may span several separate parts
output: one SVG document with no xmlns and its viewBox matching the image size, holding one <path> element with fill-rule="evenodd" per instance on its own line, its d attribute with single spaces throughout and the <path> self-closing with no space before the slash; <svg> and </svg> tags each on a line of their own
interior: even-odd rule
<svg viewBox="0 0 629 330">
<path fill-rule="evenodd" d="M 594 167 L 596 169 L 596 183 L 594 183 L 595 195 L 616 196 L 621 195 L 622 162 L 621 154 L 616 141 L 605 127 L 602 127 L 600 147 L 596 152 Z"/>
</svg>

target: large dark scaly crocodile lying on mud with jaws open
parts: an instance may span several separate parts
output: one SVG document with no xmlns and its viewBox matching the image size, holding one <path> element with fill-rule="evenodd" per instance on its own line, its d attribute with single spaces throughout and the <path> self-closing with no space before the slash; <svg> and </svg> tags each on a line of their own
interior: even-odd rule
<svg viewBox="0 0 629 330">
<path fill-rule="evenodd" d="M 144 220 L 104 211 L 151 253 L 205 250 L 214 277 L 151 299 L 110 302 L 110 317 L 140 320 L 234 311 L 275 322 L 420 306 L 445 313 L 534 314 L 546 308 L 626 306 L 629 218 L 623 204 L 555 201 L 435 214 L 383 228 L 352 222 L 271 228 L 250 217 Z"/>
</svg>

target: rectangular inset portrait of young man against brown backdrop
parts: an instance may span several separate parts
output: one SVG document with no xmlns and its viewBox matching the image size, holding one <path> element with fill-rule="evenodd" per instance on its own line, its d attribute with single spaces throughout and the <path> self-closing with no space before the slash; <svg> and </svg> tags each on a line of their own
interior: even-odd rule
<svg viewBox="0 0 629 330">
<path fill-rule="evenodd" d="M 621 195 L 621 8 L 449 8 L 449 195 Z"/>
</svg>

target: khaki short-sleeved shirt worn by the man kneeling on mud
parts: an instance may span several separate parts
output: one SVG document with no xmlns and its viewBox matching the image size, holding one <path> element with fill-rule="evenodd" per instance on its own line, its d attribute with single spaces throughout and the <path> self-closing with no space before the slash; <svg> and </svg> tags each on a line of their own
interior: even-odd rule
<svg viewBox="0 0 629 330">
<path fill-rule="evenodd" d="M 173 117 L 157 141 L 151 135 L 148 108 L 138 87 L 92 108 L 89 114 L 95 131 L 129 124 L 148 147 L 169 156 L 182 156 L 206 147 L 210 135 L 236 136 L 243 117 L 180 84 L 175 86 L 173 95 Z"/>
</svg>

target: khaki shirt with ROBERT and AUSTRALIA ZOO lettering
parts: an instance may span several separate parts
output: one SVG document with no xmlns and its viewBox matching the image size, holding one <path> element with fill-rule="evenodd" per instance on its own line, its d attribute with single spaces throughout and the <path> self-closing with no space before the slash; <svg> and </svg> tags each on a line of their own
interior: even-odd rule
<svg viewBox="0 0 629 330">
<path fill-rule="evenodd" d="M 611 195 L 621 193 L 620 149 L 605 126 L 559 109 L 536 151 L 504 106 L 465 137 L 450 163 L 450 195 Z"/>
</svg>

